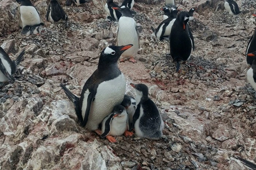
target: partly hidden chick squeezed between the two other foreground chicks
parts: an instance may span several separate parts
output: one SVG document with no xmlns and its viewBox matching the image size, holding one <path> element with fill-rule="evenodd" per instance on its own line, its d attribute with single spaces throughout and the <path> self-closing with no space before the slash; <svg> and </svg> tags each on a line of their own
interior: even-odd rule
<svg viewBox="0 0 256 170">
<path fill-rule="evenodd" d="M 132 96 L 125 94 L 121 105 L 126 108 L 126 111 L 129 116 L 129 127 L 131 128 L 132 127 L 132 117 L 136 110 L 136 100 Z M 128 130 L 131 130 L 130 128 Z"/>
</svg>

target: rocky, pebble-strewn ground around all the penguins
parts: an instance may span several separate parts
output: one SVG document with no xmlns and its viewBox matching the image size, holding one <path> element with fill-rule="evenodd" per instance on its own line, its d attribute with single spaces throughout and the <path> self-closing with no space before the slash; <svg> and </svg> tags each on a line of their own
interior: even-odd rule
<svg viewBox="0 0 256 170">
<path fill-rule="evenodd" d="M 140 30 L 135 59 L 120 63 L 129 83 L 145 83 L 165 120 L 159 141 L 116 137 L 109 143 L 77 123 L 59 87 L 80 95 L 97 68 L 99 53 L 116 43 L 118 23 L 105 22 L 105 1 L 63 7 L 65 24 L 46 22 L 40 35 L 22 36 L 19 4 L 0 1 L 0 44 L 15 59 L 25 48 L 15 82 L 0 90 L 0 169 L 246 169 L 233 156 L 256 162 L 256 99 L 246 83 L 246 46 L 255 28 L 256 2 L 238 0 L 245 14 L 230 16 L 220 0 L 179 0 L 197 7 L 189 23 L 195 51 L 181 72 L 151 26 L 162 20 L 164 2 L 135 0 Z M 44 17 L 49 2 L 35 2 Z M 61 1 L 64 6 L 65 1 Z"/>
</svg>

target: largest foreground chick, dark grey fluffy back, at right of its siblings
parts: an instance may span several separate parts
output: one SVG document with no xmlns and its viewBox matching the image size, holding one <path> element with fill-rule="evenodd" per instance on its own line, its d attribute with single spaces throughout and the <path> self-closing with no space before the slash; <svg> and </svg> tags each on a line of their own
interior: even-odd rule
<svg viewBox="0 0 256 170">
<path fill-rule="evenodd" d="M 148 97 L 148 87 L 145 84 L 132 84 L 136 90 L 138 103 L 132 119 L 132 128 L 142 138 L 157 140 L 162 137 L 163 120 L 157 106 Z"/>
</svg>

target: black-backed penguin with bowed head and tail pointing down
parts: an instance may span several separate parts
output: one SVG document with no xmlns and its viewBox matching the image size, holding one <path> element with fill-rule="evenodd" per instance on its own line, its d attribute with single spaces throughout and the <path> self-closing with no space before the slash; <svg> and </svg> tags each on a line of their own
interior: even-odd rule
<svg viewBox="0 0 256 170">
<path fill-rule="evenodd" d="M 177 72 L 180 69 L 180 62 L 187 61 L 190 58 L 192 46 L 193 50 L 195 47 L 188 20 L 188 12 L 181 12 L 178 15 L 178 18 L 174 21 L 170 34 L 170 54 L 173 61 L 177 62 Z"/>
</svg>

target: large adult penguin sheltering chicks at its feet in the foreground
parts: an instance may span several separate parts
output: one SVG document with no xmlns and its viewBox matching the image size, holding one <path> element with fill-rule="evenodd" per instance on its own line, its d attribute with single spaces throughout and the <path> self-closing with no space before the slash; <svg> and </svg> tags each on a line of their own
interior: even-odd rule
<svg viewBox="0 0 256 170">
<path fill-rule="evenodd" d="M 80 99 L 63 84 L 61 88 L 74 103 L 78 120 L 89 130 L 97 130 L 114 106 L 121 104 L 125 92 L 125 77 L 117 67 L 121 54 L 133 45 L 109 46 L 99 57 L 98 69 L 83 86 Z"/>
</svg>

